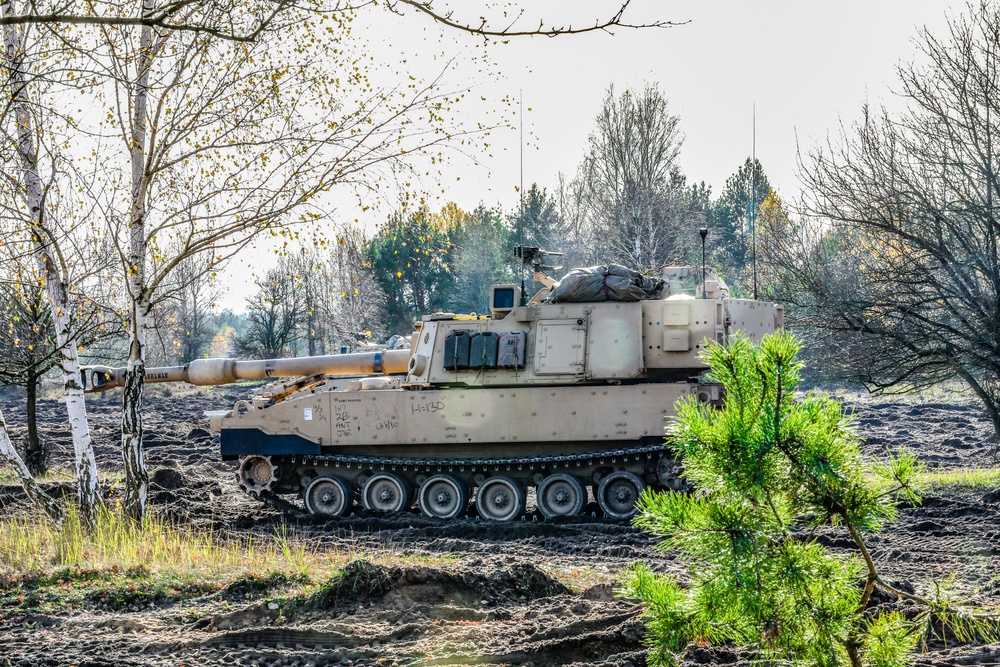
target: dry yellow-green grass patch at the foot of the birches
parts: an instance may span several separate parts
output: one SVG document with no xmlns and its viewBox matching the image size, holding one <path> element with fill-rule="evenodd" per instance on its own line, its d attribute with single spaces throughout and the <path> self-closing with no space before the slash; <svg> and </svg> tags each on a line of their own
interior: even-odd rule
<svg viewBox="0 0 1000 667">
<path fill-rule="evenodd" d="M 223 535 L 157 516 L 137 526 L 104 512 L 87 531 L 74 512 L 61 526 L 8 517 L 0 519 L 0 608 L 139 611 L 183 601 L 193 619 L 230 601 L 307 599 L 356 560 L 448 567 L 458 559 L 341 548 L 286 528 Z"/>
</svg>

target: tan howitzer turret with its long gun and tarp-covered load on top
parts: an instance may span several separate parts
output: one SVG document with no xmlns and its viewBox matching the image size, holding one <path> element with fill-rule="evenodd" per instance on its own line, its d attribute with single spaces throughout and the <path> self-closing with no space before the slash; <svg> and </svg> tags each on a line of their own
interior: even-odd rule
<svg viewBox="0 0 1000 667">
<path fill-rule="evenodd" d="M 557 267 L 543 262 L 558 253 L 519 247 L 517 254 L 542 285 L 530 301 L 517 285 L 494 285 L 489 315 L 424 315 L 415 323 L 410 349 L 200 359 L 149 368 L 145 381 L 211 386 L 391 375 L 391 386 L 404 389 L 687 381 L 706 370 L 706 341 L 723 342 L 737 330 L 759 340 L 782 326 L 780 306 L 731 298 L 725 282 L 704 267 L 664 267 L 651 277 L 595 266 L 573 269 L 556 282 L 544 271 Z M 124 368 L 91 366 L 84 372 L 88 392 L 124 384 Z M 374 386 L 369 381 L 362 388 Z"/>
</svg>

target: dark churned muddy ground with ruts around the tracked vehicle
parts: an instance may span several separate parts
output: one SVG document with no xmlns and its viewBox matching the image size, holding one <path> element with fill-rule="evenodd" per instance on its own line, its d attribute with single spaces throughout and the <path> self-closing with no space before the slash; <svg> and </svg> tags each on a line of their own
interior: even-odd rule
<svg viewBox="0 0 1000 667">
<path fill-rule="evenodd" d="M 147 456 L 159 471 L 153 504 L 185 522 L 273 535 L 285 518 L 241 495 L 232 466 L 216 460 L 203 410 L 229 407 L 238 390 L 149 400 Z M 996 443 L 974 402 L 844 398 L 854 405 L 866 450 L 915 448 L 931 468 L 994 466 Z M 118 469 L 117 396 L 90 401 L 102 470 Z M 3 399 L 11 435 L 23 436 L 23 405 Z M 44 438 L 58 465 L 71 460 L 61 406 L 44 401 Z M 21 511 L 19 489 L 0 488 L 0 511 Z M 0 665 L 643 665 L 639 609 L 616 598 L 611 580 L 643 560 L 680 573 L 683 564 L 627 525 L 592 516 L 513 524 L 471 518 L 441 523 L 418 515 L 353 516 L 297 529 L 344 551 L 388 548 L 450 556 L 452 564 L 350 566 L 321 594 L 273 601 L 286 580 L 237 582 L 183 600 L 93 605 L 28 614 L 0 609 Z M 834 548 L 841 546 L 832 541 Z M 1000 604 L 1000 489 L 929 495 L 872 538 L 891 581 L 920 589 L 955 575 L 963 593 Z M 433 562 L 433 561 L 429 561 Z M 556 576 L 562 572 L 565 576 Z M 571 581 L 583 582 L 577 590 Z M 294 590 L 294 589 L 292 589 Z M 891 601 L 887 603 L 892 604 Z M 101 609 L 100 607 L 108 607 Z M 195 613 L 195 610 L 197 612 Z M 749 664 L 730 647 L 691 651 L 686 665 Z M 917 665 L 1000 665 L 1000 645 L 932 644 Z"/>
</svg>

